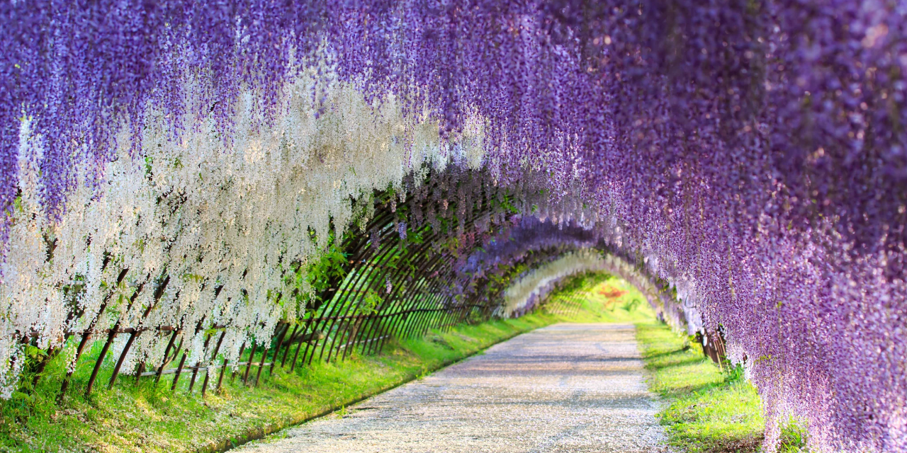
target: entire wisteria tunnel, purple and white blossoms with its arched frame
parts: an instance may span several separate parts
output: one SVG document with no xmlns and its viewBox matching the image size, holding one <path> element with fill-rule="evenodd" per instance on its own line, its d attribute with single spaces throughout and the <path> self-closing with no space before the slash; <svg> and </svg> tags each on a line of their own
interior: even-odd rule
<svg viewBox="0 0 907 453">
<path fill-rule="evenodd" d="M 0 412 L 31 415 L 0 425 L 38 389 L 203 400 L 614 276 L 742 370 L 762 451 L 794 419 L 809 451 L 907 452 L 905 15 L 2 2 Z"/>
</svg>

